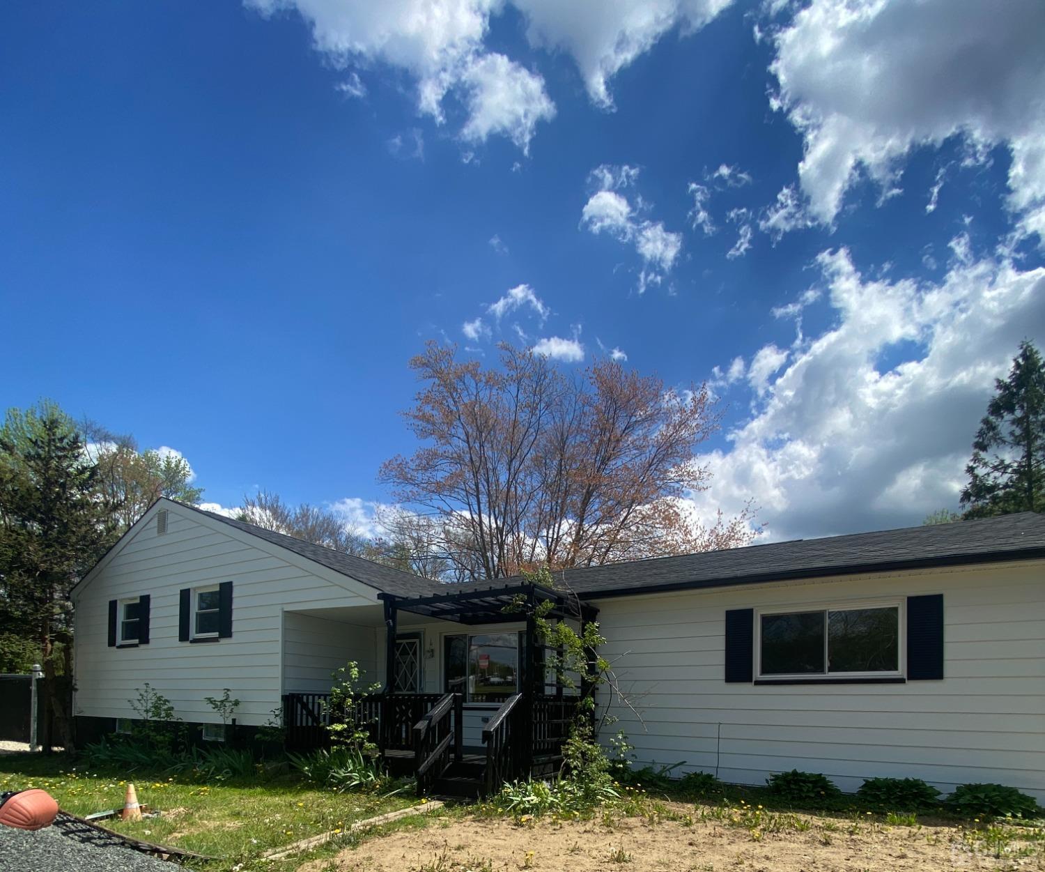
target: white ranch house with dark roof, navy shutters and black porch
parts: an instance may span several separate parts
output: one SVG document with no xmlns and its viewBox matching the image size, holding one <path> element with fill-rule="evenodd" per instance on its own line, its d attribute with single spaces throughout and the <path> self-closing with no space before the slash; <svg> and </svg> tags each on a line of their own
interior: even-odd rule
<svg viewBox="0 0 1045 872">
<path fill-rule="evenodd" d="M 446 586 L 160 500 L 73 593 L 74 711 L 82 741 L 112 732 L 148 682 L 218 739 L 204 697 L 230 688 L 238 727 L 284 711 L 315 739 L 354 660 L 385 687 L 365 704 L 382 753 L 479 791 L 554 767 L 573 705 L 504 612 L 521 595 L 598 620 L 638 765 L 1045 799 L 1043 571 L 1045 518 L 1024 513 Z"/>
</svg>

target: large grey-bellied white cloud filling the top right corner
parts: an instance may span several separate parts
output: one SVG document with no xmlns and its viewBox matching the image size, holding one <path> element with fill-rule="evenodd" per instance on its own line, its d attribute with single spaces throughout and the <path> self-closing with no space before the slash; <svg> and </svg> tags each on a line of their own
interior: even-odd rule
<svg viewBox="0 0 1045 872">
<path fill-rule="evenodd" d="M 775 33 L 770 67 L 774 106 L 805 138 L 798 178 L 811 214 L 831 224 L 861 171 L 888 191 L 913 148 L 960 136 L 974 161 L 1008 146 L 1008 205 L 1037 232 L 1042 33 L 1041 0 L 813 0 Z"/>
</svg>

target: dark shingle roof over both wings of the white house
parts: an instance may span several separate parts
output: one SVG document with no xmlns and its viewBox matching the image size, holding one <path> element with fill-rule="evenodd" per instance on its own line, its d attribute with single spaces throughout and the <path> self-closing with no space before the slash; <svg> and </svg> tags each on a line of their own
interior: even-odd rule
<svg viewBox="0 0 1045 872">
<path fill-rule="evenodd" d="M 187 506 L 223 524 L 286 548 L 322 566 L 396 596 L 445 592 L 446 584 L 419 578 L 363 557 L 353 557 L 263 527 Z M 687 588 L 754 584 L 789 578 L 815 578 L 860 572 L 918 569 L 961 564 L 1045 557 L 1045 515 L 1007 514 L 872 533 L 775 542 L 678 557 L 656 557 L 556 573 L 574 593 L 618 596 Z M 521 579 L 484 579 L 449 586 L 469 593 Z"/>
</svg>

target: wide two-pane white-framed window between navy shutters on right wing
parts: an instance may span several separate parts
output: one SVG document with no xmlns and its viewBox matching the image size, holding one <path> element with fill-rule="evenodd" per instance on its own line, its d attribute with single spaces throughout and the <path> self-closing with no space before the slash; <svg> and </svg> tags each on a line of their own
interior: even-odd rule
<svg viewBox="0 0 1045 872">
<path fill-rule="evenodd" d="M 901 678 L 902 626 L 900 600 L 757 610 L 758 678 Z"/>
</svg>

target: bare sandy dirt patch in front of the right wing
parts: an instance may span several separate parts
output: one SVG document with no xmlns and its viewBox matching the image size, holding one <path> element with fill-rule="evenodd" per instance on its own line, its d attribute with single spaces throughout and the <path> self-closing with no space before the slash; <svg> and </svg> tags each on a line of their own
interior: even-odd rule
<svg viewBox="0 0 1045 872">
<path fill-rule="evenodd" d="M 886 826 L 787 816 L 768 827 L 667 817 L 597 821 L 434 822 L 342 851 L 299 872 L 930 872 L 1045 869 L 1039 844 L 984 845 L 957 826 Z M 691 823 L 690 820 L 693 819 Z M 779 829 L 773 830 L 773 827 Z M 767 831 L 771 830 L 771 831 Z M 994 854 L 1000 854 L 995 856 Z"/>
</svg>

